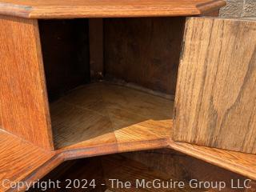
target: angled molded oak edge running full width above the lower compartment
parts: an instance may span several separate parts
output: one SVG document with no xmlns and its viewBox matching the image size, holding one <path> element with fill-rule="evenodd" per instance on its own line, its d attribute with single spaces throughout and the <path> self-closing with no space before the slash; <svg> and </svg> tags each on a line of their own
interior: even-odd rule
<svg viewBox="0 0 256 192">
<path fill-rule="evenodd" d="M 5 134 L 10 141 L 12 139 L 16 139 L 17 141 L 20 140 L 16 136 L 10 135 L 8 133 Z M 23 146 L 25 146 L 26 148 L 33 148 L 32 150 L 37 150 L 41 155 L 46 155 L 47 157 L 46 160 L 38 163 L 38 165 L 34 167 L 34 170 L 27 170 L 26 174 L 22 173 L 22 176 L 19 175 L 18 178 L 14 178 L 15 181 L 19 182 L 30 183 L 38 181 L 38 179 L 48 174 L 50 170 L 53 170 L 62 162 L 70 159 L 89 158 L 103 154 L 115 154 L 122 152 L 161 148 L 171 148 L 173 150 L 177 150 L 184 154 L 190 155 L 194 158 L 201 159 L 202 161 L 209 162 L 210 164 L 214 164 L 215 166 L 220 166 L 226 170 L 231 170 L 237 174 L 241 174 L 248 178 L 256 179 L 256 165 L 254 163 L 256 158 L 253 154 L 242 154 L 229 150 L 218 150 L 209 147 L 195 146 L 187 143 L 173 142 L 169 138 L 162 138 L 153 141 L 143 142 L 124 142 L 120 143 L 119 145 L 102 145 L 76 150 L 59 150 L 56 152 L 42 150 L 41 148 L 38 148 L 37 146 L 34 146 L 33 144 L 24 141 L 22 141 L 22 143 L 21 141 L 18 141 L 18 143 L 20 143 L 20 146 L 18 146 L 19 148 L 22 148 Z M 4 145 L 2 146 L 2 148 L 4 149 Z M 33 151 L 31 151 L 31 153 L 32 152 Z M 38 152 L 36 152 L 36 154 L 38 155 Z M 15 189 L 9 189 L 6 191 L 14 190 Z M 25 189 L 20 189 L 19 191 L 24 190 Z"/>
</svg>

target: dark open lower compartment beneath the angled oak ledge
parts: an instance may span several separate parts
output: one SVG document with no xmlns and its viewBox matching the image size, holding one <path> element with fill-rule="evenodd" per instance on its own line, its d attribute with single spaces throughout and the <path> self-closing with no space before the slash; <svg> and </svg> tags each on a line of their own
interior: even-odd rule
<svg viewBox="0 0 256 192">
<path fill-rule="evenodd" d="M 41 190 L 243 192 L 248 191 L 242 189 L 244 185 L 251 186 L 251 190 L 255 187 L 255 182 L 241 175 L 175 150 L 145 150 L 72 160 L 52 170 L 41 183 L 49 181 L 52 185 L 42 185 Z M 234 190 L 238 186 L 240 189 Z M 38 188 L 39 185 L 34 185 L 29 191 Z"/>
</svg>

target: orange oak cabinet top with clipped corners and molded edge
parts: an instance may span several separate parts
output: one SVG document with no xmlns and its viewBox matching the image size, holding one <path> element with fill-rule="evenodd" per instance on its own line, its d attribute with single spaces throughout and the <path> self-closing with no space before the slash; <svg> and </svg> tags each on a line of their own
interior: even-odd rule
<svg viewBox="0 0 256 192">
<path fill-rule="evenodd" d="M 2 0 L 0 14 L 24 18 L 113 18 L 198 15 L 225 6 L 222 0 Z"/>
</svg>

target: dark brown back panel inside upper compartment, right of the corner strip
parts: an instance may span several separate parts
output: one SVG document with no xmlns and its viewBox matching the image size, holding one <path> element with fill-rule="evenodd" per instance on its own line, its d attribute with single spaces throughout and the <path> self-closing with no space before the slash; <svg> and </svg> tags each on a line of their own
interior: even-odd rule
<svg viewBox="0 0 256 192">
<path fill-rule="evenodd" d="M 185 18 L 105 19 L 106 77 L 174 95 L 184 22 Z"/>
</svg>

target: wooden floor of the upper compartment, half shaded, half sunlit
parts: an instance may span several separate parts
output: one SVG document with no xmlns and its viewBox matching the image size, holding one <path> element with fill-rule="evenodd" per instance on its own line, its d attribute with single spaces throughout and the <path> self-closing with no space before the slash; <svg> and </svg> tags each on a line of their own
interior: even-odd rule
<svg viewBox="0 0 256 192">
<path fill-rule="evenodd" d="M 163 147 L 173 106 L 169 99 L 109 82 L 79 87 L 50 105 L 55 147 L 109 147 L 110 153 Z"/>
</svg>

